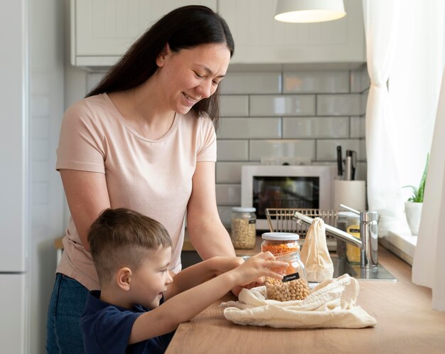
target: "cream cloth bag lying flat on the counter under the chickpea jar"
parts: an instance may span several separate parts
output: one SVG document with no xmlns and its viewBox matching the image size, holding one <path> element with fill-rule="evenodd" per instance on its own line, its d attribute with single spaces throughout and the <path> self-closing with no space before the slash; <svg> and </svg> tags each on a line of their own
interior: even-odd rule
<svg viewBox="0 0 445 354">
<path fill-rule="evenodd" d="M 239 301 L 224 302 L 224 316 L 240 325 L 274 328 L 365 328 L 377 321 L 356 305 L 358 281 L 344 274 L 318 284 L 304 300 L 266 299 L 266 286 L 242 289 Z"/>
</svg>

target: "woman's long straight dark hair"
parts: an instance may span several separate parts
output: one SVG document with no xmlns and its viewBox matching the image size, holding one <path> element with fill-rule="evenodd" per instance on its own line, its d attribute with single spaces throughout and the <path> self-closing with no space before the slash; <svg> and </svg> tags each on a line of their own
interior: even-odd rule
<svg viewBox="0 0 445 354">
<path fill-rule="evenodd" d="M 235 49 L 232 33 L 224 18 L 206 6 L 183 6 L 154 23 L 85 97 L 141 85 L 156 72 L 156 58 L 166 43 L 174 53 L 202 44 L 224 43 L 232 57 Z M 218 87 L 212 96 L 192 107 L 197 116 L 207 114 L 215 127 L 220 113 L 219 91 Z"/>
</svg>

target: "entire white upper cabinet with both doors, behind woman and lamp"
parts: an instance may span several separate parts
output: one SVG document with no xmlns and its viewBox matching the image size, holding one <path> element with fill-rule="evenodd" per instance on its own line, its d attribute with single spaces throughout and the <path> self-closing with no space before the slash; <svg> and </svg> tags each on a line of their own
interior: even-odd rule
<svg viewBox="0 0 445 354">
<path fill-rule="evenodd" d="M 231 63 L 363 63 L 362 1 L 345 0 L 347 15 L 323 23 L 274 20 L 277 0 L 71 0 L 71 63 L 113 65 L 168 11 L 187 4 L 217 10 L 235 40 Z"/>
</svg>

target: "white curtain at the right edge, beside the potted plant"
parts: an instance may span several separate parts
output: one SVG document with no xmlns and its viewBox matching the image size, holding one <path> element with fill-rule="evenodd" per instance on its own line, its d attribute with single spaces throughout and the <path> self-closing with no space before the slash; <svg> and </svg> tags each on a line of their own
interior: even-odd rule
<svg viewBox="0 0 445 354">
<path fill-rule="evenodd" d="M 434 125 L 422 220 L 412 264 L 412 281 L 432 289 L 432 308 L 445 311 L 445 70 Z"/>
</svg>

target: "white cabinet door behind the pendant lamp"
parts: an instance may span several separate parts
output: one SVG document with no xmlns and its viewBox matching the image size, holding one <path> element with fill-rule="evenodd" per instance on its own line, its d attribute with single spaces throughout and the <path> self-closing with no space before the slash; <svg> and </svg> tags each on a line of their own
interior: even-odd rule
<svg viewBox="0 0 445 354">
<path fill-rule="evenodd" d="M 345 0 L 347 15 L 322 23 L 274 20 L 277 1 L 219 0 L 235 39 L 231 63 L 365 62 L 362 1 Z"/>
</svg>

